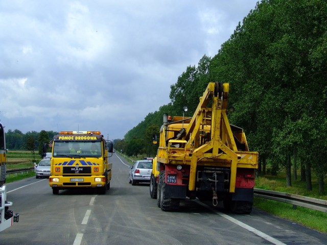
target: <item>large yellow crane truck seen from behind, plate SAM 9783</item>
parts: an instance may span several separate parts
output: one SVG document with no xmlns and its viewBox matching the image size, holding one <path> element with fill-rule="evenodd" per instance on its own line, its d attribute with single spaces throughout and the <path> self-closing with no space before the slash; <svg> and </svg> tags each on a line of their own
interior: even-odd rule
<svg viewBox="0 0 327 245">
<path fill-rule="evenodd" d="M 161 210 L 178 209 L 188 197 L 251 212 L 259 154 L 249 151 L 243 129 L 229 124 L 228 93 L 228 83 L 211 82 L 193 117 L 164 115 L 150 179 Z"/>
</svg>

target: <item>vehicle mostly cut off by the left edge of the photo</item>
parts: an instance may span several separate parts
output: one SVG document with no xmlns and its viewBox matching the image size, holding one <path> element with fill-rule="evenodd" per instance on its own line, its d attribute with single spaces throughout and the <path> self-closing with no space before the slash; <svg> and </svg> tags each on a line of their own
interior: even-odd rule
<svg viewBox="0 0 327 245">
<path fill-rule="evenodd" d="M 13 222 L 19 221 L 19 213 L 13 213 L 9 210 L 12 202 L 7 201 L 6 182 L 6 164 L 7 149 L 5 139 L 5 127 L 0 124 L 0 231 L 3 231 L 13 225 Z"/>
</svg>

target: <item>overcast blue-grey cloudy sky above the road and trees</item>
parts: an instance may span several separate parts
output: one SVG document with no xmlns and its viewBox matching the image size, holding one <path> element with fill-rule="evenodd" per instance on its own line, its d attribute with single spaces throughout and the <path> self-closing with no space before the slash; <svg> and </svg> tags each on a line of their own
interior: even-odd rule
<svg viewBox="0 0 327 245">
<path fill-rule="evenodd" d="M 6 131 L 124 138 L 256 2 L 3 0 L 0 120 Z"/>
</svg>

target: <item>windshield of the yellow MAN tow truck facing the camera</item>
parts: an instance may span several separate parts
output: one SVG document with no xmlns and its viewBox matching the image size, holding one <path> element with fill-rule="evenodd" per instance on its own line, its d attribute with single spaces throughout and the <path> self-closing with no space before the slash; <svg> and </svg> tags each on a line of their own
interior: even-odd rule
<svg viewBox="0 0 327 245">
<path fill-rule="evenodd" d="M 54 157 L 101 157 L 100 141 L 55 141 Z"/>
</svg>

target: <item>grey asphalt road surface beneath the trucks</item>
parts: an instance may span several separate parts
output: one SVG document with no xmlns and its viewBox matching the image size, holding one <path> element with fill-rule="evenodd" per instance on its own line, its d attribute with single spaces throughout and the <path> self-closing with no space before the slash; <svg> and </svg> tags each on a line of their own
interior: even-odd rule
<svg viewBox="0 0 327 245">
<path fill-rule="evenodd" d="M 7 184 L 7 199 L 19 223 L 0 233 L 0 245 L 90 244 L 327 244 L 327 235 L 254 209 L 224 213 L 210 203 L 186 200 L 175 212 L 161 211 L 149 185 L 128 183 L 129 164 L 113 155 L 111 188 L 60 190 L 48 179 Z"/>
</svg>

